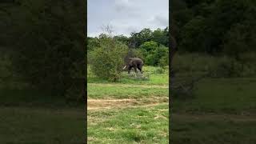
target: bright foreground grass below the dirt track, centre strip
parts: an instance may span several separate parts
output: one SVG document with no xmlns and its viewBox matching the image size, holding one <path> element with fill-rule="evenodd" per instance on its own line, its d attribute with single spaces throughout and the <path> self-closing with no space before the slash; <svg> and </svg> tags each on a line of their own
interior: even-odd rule
<svg viewBox="0 0 256 144">
<path fill-rule="evenodd" d="M 93 111 L 88 143 L 168 143 L 168 105 Z"/>
</svg>

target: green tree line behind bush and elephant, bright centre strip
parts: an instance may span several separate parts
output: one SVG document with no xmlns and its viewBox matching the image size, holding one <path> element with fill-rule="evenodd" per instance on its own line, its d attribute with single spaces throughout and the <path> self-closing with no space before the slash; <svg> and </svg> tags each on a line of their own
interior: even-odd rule
<svg viewBox="0 0 256 144">
<path fill-rule="evenodd" d="M 102 38 L 106 34 L 100 34 L 98 37 L 87 38 L 87 51 L 94 50 L 100 46 Z M 132 32 L 127 37 L 123 34 L 113 36 L 117 42 L 122 42 L 129 47 L 126 58 L 142 58 L 148 66 L 166 66 L 169 61 L 169 27 L 164 29 L 150 30 L 144 28 L 139 32 Z M 90 62 L 90 61 L 89 61 Z"/>
</svg>

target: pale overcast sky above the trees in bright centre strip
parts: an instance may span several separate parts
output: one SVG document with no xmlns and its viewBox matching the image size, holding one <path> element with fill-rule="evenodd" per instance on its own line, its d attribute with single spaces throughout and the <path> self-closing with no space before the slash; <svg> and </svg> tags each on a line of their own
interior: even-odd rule
<svg viewBox="0 0 256 144">
<path fill-rule="evenodd" d="M 130 36 L 143 28 L 169 26 L 169 0 L 88 0 L 88 36 L 102 33 L 102 26 L 113 27 L 114 34 Z"/>
</svg>

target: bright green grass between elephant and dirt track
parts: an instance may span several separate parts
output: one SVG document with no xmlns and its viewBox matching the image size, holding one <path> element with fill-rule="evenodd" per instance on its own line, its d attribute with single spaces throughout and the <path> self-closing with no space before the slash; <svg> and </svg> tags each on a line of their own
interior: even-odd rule
<svg viewBox="0 0 256 144">
<path fill-rule="evenodd" d="M 168 97 L 168 70 L 157 74 L 158 67 L 144 66 L 144 75 L 149 74 L 149 80 L 135 79 L 123 72 L 119 82 L 108 82 L 88 73 L 88 98 L 152 98 Z"/>
</svg>

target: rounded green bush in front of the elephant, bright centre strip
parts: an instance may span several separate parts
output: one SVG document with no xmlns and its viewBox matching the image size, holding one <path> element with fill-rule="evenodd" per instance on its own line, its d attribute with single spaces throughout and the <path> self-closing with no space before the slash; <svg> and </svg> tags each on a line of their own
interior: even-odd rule
<svg viewBox="0 0 256 144">
<path fill-rule="evenodd" d="M 116 42 L 114 38 L 102 35 L 100 46 L 90 53 L 90 66 L 92 72 L 99 78 L 112 82 L 121 78 L 123 58 L 128 47 L 122 42 Z"/>
</svg>

